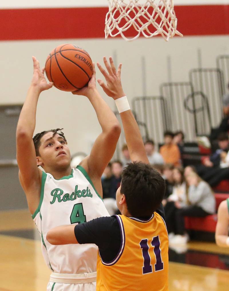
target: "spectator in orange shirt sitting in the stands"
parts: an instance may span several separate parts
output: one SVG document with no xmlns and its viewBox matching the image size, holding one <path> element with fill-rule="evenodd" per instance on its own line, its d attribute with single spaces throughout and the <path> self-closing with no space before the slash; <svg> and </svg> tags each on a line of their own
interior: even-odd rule
<svg viewBox="0 0 229 291">
<path fill-rule="evenodd" d="M 173 143 L 174 134 L 170 131 L 164 133 L 165 144 L 160 148 L 160 154 L 162 155 L 166 164 L 173 164 L 174 166 L 180 166 L 181 154 L 179 148 Z"/>
</svg>

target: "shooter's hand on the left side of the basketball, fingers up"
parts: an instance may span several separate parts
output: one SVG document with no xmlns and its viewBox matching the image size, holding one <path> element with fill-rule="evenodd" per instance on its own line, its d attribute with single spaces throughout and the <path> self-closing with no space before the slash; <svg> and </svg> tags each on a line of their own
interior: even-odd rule
<svg viewBox="0 0 229 291">
<path fill-rule="evenodd" d="M 33 56 L 32 58 L 33 58 L 33 78 L 31 82 L 32 86 L 37 87 L 40 92 L 52 88 L 53 82 L 47 83 L 44 77 L 45 68 L 41 70 L 39 61 L 37 61 L 35 56 Z"/>
</svg>

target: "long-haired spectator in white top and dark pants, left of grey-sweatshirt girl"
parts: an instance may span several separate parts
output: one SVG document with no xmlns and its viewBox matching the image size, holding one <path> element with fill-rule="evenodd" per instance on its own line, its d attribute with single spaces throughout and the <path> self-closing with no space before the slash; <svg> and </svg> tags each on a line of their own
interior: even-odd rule
<svg viewBox="0 0 229 291">
<path fill-rule="evenodd" d="M 177 233 L 176 212 L 181 207 L 187 206 L 187 186 L 184 178 L 183 168 L 173 169 L 174 187 L 172 194 L 167 198 L 165 205 L 165 219 L 169 237 L 172 238 Z"/>
</svg>

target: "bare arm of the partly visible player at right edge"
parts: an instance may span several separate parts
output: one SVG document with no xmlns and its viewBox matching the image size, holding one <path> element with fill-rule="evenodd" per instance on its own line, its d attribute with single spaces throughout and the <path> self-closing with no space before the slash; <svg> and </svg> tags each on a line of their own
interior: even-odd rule
<svg viewBox="0 0 229 291">
<path fill-rule="evenodd" d="M 222 201 L 218 208 L 215 241 L 218 246 L 229 248 L 229 199 Z"/>
</svg>

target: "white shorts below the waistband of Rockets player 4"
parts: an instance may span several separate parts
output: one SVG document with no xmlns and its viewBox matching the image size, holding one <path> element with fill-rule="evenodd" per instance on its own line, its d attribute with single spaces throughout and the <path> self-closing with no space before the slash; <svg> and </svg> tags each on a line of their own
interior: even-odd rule
<svg viewBox="0 0 229 291">
<path fill-rule="evenodd" d="M 48 282 L 47 291 L 95 291 L 96 282 L 84 284 L 66 284 Z"/>
</svg>

